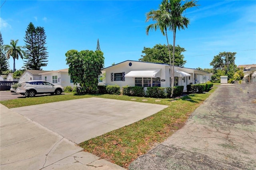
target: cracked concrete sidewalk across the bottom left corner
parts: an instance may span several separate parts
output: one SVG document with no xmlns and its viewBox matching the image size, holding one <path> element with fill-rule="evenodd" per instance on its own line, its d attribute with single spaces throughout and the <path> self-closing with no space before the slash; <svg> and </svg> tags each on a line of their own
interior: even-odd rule
<svg viewBox="0 0 256 170">
<path fill-rule="evenodd" d="M 0 104 L 1 170 L 125 170 Z"/>
</svg>

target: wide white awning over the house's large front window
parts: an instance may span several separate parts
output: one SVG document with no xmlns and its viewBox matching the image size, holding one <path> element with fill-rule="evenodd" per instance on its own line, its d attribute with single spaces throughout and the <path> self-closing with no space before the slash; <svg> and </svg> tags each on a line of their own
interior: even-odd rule
<svg viewBox="0 0 256 170">
<path fill-rule="evenodd" d="M 130 71 L 127 74 L 124 75 L 124 77 L 150 77 L 150 78 L 157 78 L 160 77 L 161 69 L 155 69 L 155 70 L 134 70 Z"/>
</svg>

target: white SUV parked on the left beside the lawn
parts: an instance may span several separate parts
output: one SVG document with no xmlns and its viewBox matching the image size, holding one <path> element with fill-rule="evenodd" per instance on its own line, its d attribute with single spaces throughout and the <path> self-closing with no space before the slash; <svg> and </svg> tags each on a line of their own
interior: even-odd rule
<svg viewBox="0 0 256 170">
<path fill-rule="evenodd" d="M 36 94 L 61 94 L 64 88 L 60 85 L 52 84 L 42 80 L 30 80 L 21 83 L 21 86 L 16 88 L 16 93 L 22 94 L 26 97 L 34 97 Z"/>
</svg>

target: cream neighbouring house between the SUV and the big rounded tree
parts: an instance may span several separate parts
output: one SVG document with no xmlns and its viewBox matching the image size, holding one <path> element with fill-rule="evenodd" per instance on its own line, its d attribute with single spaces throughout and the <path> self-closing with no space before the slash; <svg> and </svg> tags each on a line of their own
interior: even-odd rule
<svg viewBox="0 0 256 170">
<path fill-rule="evenodd" d="M 68 68 L 56 71 L 48 71 L 41 73 L 42 80 L 46 80 L 53 84 L 58 84 L 61 86 L 71 86 L 74 87 L 74 83 L 70 79 L 70 75 L 68 75 Z"/>
</svg>

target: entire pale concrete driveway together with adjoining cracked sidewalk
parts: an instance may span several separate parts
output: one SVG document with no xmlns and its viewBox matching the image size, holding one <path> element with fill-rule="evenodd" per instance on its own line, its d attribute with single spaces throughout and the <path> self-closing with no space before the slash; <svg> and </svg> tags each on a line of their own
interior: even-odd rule
<svg viewBox="0 0 256 170">
<path fill-rule="evenodd" d="M 13 109 L 0 104 L 0 169 L 124 170 L 82 151 L 75 143 L 129 125 L 166 107 L 102 98 Z"/>
</svg>

